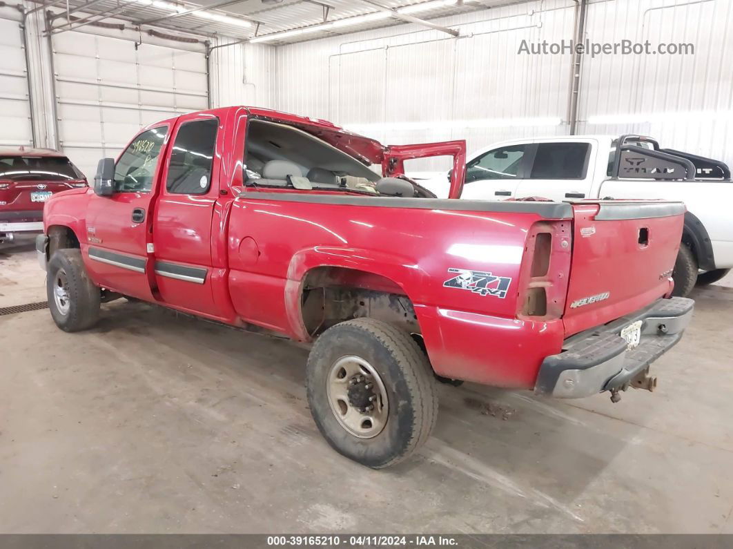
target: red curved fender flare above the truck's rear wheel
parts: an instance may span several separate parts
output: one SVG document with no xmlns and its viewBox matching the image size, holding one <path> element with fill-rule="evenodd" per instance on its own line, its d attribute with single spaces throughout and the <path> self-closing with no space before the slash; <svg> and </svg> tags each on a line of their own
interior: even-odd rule
<svg viewBox="0 0 733 549">
<path fill-rule="evenodd" d="M 319 267 L 345 268 L 383 277 L 399 287 L 402 294 L 413 303 L 416 296 L 410 295 L 408 288 L 419 287 L 419 282 L 427 278 L 427 274 L 416 260 L 409 257 L 337 246 L 314 246 L 298 251 L 293 254 L 288 266 L 284 299 L 287 320 L 295 339 L 299 341 L 311 339 L 303 324 L 301 295 L 308 274 Z"/>
</svg>

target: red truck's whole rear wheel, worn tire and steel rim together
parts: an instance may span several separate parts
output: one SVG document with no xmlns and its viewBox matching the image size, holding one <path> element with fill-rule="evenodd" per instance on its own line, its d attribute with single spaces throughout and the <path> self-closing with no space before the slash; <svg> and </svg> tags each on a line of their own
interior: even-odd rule
<svg viewBox="0 0 733 549">
<path fill-rule="evenodd" d="M 410 334 L 371 318 L 328 328 L 306 367 L 311 413 L 342 455 L 380 469 L 415 452 L 435 425 L 438 396 Z"/>
</svg>

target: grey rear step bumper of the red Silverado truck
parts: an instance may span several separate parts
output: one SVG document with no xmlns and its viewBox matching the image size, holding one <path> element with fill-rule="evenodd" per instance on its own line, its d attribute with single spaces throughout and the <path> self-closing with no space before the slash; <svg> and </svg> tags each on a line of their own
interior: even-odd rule
<svg viewBox="0 0 733 549">
<path fill-rule="evenodd" d="M 563 352 L 542 361 L 534 392 L 556 398 L 589 397 L 623 389 L 636 375 L 682 338 L 692 319 L 694 301 L 660 299 L 640 311 L 576 334 L 564 341 Z M 627 349 L 619 335 L 641 320 L 638 347 Z"/>
</svg>

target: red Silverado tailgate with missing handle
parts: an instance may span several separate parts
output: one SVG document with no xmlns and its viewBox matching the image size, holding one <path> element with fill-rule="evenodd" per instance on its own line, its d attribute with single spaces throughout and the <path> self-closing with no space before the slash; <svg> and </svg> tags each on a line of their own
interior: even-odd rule
<svg viewBox="0 0 733 549">
<path fill-rule="evenodd" d="M 573 205 L 565 336 L 611 322 L 671 291 L 682 238 L 682 202 Z"/>
</svg>

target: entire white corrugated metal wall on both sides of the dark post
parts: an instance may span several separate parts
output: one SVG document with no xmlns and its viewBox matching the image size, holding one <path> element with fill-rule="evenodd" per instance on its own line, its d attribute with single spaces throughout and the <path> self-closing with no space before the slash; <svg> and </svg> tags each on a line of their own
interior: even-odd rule
<svg viewBox="0 0 733 549">
<path fill-rule="evenodd" d="M 569 133 L 570 54 L 517 50 L 523 39 L 570 40 L 574 1 L 434 21 L 463 37 L 401 25 L 275 48 L 272 106 L 394 144 L 465 138 L 474 150 Z M 693 43 L 695 54 L 584 56 L 578 133 L 648 133 L 733 164 L 733 71 L 724 58 L 733 51 L 733 1 L 592 0 L 586 30 L 592 42 Z"/>
</svg>

